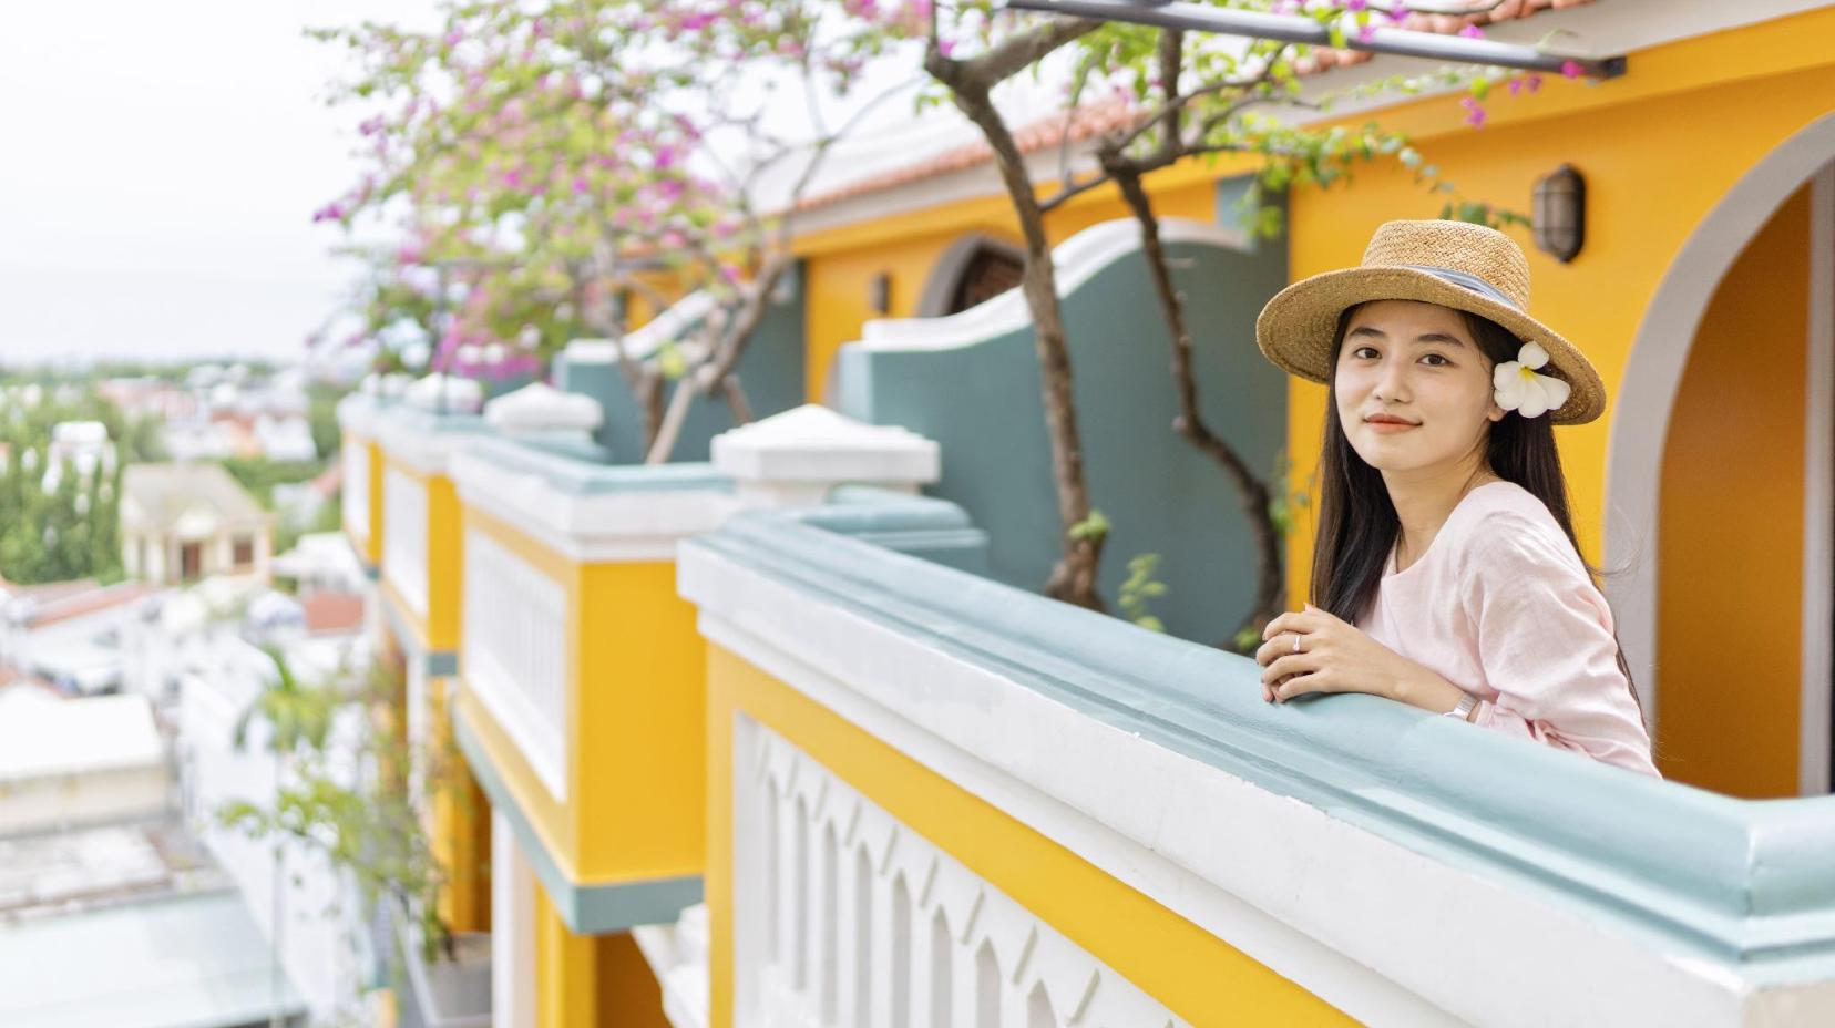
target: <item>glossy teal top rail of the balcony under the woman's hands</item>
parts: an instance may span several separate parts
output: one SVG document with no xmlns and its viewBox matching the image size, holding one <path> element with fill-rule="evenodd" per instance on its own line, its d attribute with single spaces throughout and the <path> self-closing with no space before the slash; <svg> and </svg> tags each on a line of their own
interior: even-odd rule
<svg viewBox="0 0 1835 1028">
<path fill-rule="evenodd" d="M 1444 863 L 1508 876 L 1736 964 L 1749 978 L 1835 975 L 1835 797 L 1730 799 L 1373 696 L 1268 707 L 1248 657 L 868 542 L 875 518 L 960 529 L 949 510 L 840 499 L 795 516 L 740 514 L 684 545 Z"/>
</svg>

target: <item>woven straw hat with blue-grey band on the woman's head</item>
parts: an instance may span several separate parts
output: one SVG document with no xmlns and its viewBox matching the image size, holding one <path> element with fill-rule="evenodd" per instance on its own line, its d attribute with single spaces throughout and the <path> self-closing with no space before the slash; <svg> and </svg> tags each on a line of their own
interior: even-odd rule
<svg viewBox="0 0 1835 1028">
<path fill-rule="evenodd" d="M 1268 301 L 1255 343 L 1283 371 L 1327 384 L 1338 318 L 1371 299 L 1420 299 L 1470 310 L 1549 351 L 1541 369 L 1569 384 L 1554 424 L 1585 424 L 1606 409 L 1606 386 L 1585 354 L 1529 316 L 1529 259 L 1508 235 L 1470 222 L 1387 222 L 1363 264 L 1301 279 Z"/>
</svg>

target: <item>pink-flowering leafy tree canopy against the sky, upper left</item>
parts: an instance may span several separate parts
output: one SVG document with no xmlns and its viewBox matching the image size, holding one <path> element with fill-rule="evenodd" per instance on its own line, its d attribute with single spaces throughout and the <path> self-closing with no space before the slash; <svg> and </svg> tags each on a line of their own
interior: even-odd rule
<svg viewBox="0 0 1835 1028">
<path fill-rule="evenodd" d="M 844 130 L 818 101 L 914 35 L 925 6 L 473 0 L 446 4 L 431 33 L 314 33 L 356 64 L 334 101 L 369 114 L 365 174 L 316 218 L 373 213 L 400 237 L 363 253 L 352 341 L 420 343 L 442 371 L 527 373 L 574 338 L 622 338 L 629 297 L 661 308 L 699 290 L 717 307 L 681 352 L 694 391 L 714 393 L 789 264 L 780 215 Z M 787 103 L 809 110 L 811 141 L 767 130 Z M 762 178 L 796 162 L 789 198 L 760 209 Z M 626 360 L 633 389 L 664 378 L 659 356 Z M 651 459 L 672 442 L 657 431 Z"/>
</svg>

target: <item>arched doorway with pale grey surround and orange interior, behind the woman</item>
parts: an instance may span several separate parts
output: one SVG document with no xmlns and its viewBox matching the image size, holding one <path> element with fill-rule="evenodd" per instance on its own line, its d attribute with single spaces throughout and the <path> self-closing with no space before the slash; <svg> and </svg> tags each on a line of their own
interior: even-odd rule
<svg viewBox="0 0 1835 1028">
<path fill-rule="evenodd" d="M 1831 160 L 1835 116 L 1701 220 L 1611 417 L 1607 591 L 1659 764 L 1736 795 L 1829 791 Z"/>
</svg>

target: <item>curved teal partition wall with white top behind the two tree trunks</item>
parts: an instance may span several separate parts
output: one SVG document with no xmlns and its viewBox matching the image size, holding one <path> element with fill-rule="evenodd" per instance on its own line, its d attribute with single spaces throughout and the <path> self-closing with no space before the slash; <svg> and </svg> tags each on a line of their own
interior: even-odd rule
<svg viewBox="0 0 1835 1028">
<path fill-rule="evenodd" d="M 1235 222 L 1233 198 L 1218 211 Z M 1118 228 L 1130 242 L 1114 244 Z M 1196 349 L 1206 419 L 1259 474 L 1286 439 L 1286 382 L 1255 349 L 1255 316 L 1286 285 L 1286 248 L 1233 228 L 1169 222 L 1174 279 Z M 1081 246 L 1107 233 L 1110 246 Z M 1088 237 L 1088 240 L 1084 239 Z M 1079 248 L 1083 253 L 1079 253 Z M 1077 266 L 1092 259 L 1101 266 Z M 1112 611 L 1129 558 L 1162 554 L 1167 595 L 1151 611 L 1167 631 L 1224 642 L 1253 602 L 1255 551 L 1240 494 L 1173 431 L 1171 343 L 1130 224 L 1095 226 L 1059 248 L 1083 455 L 1094 505 L 1112 523 L 1099 587 Z M 1068 274 L 1066 274 L 1068 272 Z M 987 310 L 870 325 L 842 347 L 837 397 L 850 417 L 903 424 L 943 448 L 932 496 L 991 536 L 989 569 L 1040 589 L 1059 554 L 1057 499 L 1029 323 Z"/>
</svg>

